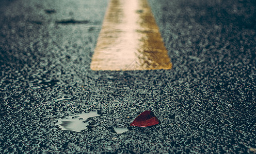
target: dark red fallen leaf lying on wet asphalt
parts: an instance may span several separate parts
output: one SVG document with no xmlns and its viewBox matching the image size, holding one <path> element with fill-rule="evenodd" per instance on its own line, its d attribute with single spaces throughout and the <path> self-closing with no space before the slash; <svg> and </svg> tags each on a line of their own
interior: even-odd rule
<svg viewBox="0 0 256 154">
<path fill-rule="evenodd" d="M 152 111 L 144 111 L 130 124 L 130 126 L 148 127 L 159 124 Z"/>
</svg>

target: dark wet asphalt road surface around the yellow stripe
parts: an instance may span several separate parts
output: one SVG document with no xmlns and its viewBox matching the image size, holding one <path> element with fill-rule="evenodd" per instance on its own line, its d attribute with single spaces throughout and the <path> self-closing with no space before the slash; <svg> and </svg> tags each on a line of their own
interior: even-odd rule
<svg viewBox="0 0 256 154">
<path fill-rule="evenodd" d="M 0 153 L 256 153 L 255 1 L 149 2 L 171 70 L 90 70 L 108 1 L 1 1 Z"/>
</svg>

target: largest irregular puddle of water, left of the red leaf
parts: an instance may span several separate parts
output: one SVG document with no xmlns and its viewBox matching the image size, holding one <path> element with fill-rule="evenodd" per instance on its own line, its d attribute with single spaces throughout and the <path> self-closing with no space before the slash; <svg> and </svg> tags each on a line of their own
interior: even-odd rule
<svg viewBox="0 0 256 154">
<path fill-rule="evenodd" d="M 86 126 L 89 125 L 84 121 L 88 118 L 98 116 L 100 116 L 100 114 L 98 114 L 97 111 L 91 111 L 89 113 L 82 112 L 63 119 L 55 119 L 58 121 L 55 125 L 59 126 L 62 130 L 81 132 L 82 130 L 87 129 Z"/>
</svg>

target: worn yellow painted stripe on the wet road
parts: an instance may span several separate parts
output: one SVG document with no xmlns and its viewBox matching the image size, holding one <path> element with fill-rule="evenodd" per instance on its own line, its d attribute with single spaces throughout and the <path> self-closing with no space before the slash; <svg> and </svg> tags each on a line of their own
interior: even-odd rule
<svg viewBox="0 0 256 154">
<path fill-rule="evenodd" d="M 110 0 L 90 67 L 92 70 L 171 69 L 147 0 Z"/>
</svg>

